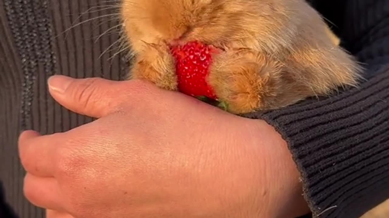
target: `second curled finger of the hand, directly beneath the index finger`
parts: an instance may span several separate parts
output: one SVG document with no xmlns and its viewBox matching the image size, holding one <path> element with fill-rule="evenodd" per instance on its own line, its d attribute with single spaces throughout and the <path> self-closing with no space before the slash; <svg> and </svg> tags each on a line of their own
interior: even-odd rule
<svg viewBox="0 0 389 218">
<path fill-rule="evenodd" d="M 27 173 L 24 180 L 25 197 L 37 207 L 64 211 L 60 188 L 55 178 L 43 178 Z"/>
</svg>

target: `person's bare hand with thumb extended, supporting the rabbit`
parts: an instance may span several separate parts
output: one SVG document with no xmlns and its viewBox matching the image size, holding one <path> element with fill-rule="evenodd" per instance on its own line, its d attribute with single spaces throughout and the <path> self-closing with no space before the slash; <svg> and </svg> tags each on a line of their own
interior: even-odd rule
<svg viewBox="0 0 389 218">
<path fill-rule="evenodd" d="M 56 76 L 49 87 L 63 106 L 98 118 L 19 138 L 25 196 L 60 211 L 49 218 L 284 218 L 307 211 L 286 142 L 264 121 L 138 80 Z"/>
</svg>

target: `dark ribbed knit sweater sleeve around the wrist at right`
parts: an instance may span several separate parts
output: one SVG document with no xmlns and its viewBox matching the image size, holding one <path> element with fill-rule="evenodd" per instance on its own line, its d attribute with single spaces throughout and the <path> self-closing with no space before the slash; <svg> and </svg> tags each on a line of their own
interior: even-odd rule
<svg viewBox="0 0 389 218">
<path fill-rule="evenodd" d="M 342 38 L 366 68 L 359 88 L 269 112 L 314 217 L 358 218 L 389 198 L 389 1 L 346 1 Z"/>
</svg>

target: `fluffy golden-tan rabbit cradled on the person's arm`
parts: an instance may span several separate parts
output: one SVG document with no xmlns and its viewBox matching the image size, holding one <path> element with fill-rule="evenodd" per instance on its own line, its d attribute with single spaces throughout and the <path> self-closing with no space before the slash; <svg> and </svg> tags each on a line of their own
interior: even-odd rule
<svg viewBox="0 0 389 218">
<path fill-rule="evenodd" d="M 228 111 L 278 109 L 339 87 L 362 68 L 305 0 L 123 0 L 129 79 L 177 90 L 169 47 L 200 41 L 223 50 L 207 82 Z"/>
</svg>

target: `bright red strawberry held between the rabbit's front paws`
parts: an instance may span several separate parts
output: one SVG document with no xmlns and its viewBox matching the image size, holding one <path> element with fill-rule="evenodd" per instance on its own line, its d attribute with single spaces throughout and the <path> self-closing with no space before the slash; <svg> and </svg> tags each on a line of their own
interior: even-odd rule
<svg viewBox="0 0 389 218">
<path fill-rule="evenodd" d="M 208 97 L 216 100 L 212 87 L 207 84 L 212 54 L 217 49 L 200 42 L 175 45 L 171 52 L 176 61 L 176 74 L 180 92 L 194 97 Z"/>
</svg>

